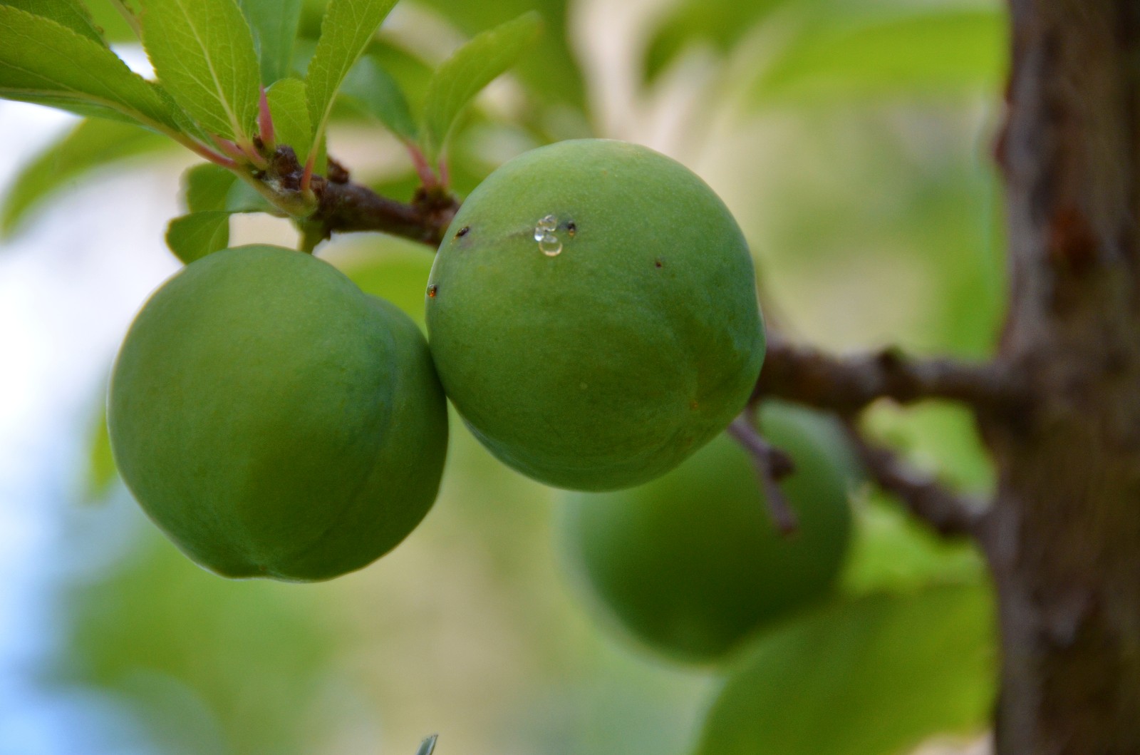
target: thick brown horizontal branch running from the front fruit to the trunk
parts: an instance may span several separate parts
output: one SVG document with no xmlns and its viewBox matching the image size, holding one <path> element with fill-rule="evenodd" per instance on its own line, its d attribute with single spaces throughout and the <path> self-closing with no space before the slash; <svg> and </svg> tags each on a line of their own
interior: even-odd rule
<svg viewBox="0 0 1140 755">
<path fill-rule="evenodd" d="M 901 404 L 943 398 L 994 409 L 1020 404 L 1017 387 L 996 364 L 913 359 L 898 349 L 832 356 L 779 338 L 768 341 L 752 401 L 783 398 L 852 415 L 878 398 Z"/>
</svg>

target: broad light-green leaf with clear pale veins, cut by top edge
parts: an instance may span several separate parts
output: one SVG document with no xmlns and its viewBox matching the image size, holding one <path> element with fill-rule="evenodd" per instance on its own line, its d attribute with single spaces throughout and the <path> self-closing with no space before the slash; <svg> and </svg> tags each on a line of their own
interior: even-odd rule
<svg viewBox="0 0 1140 755">
<path fill-rule="evenodd" d="M 260 73 L 250 25 L 235 0 L 146 0 L 142 44 L 182 109 L 211 133 L 249 141 Z"/>
</svg>

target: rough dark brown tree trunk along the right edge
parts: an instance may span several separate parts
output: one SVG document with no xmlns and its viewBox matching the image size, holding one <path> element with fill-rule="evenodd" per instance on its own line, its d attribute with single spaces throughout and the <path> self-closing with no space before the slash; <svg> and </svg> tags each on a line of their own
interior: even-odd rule
<svg viewBox="0 0 1140 755">
<path fill-rule="evenodd" d="M 1140 754 L 1140 0 L 1010 0 L 999 755 Z"/>
</svg>

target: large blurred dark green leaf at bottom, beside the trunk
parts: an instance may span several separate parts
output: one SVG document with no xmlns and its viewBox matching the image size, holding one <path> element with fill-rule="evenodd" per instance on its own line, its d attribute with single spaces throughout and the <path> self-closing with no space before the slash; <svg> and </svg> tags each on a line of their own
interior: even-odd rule
<svg viewBox="0 0 1140 755">
<path fill-rule="evenodd" d="M 985 725 L 992 599 L 979 586 L 836 602 L 757 638 L 705 721 L 698 755 L 891 755 Z"/>
</svg>

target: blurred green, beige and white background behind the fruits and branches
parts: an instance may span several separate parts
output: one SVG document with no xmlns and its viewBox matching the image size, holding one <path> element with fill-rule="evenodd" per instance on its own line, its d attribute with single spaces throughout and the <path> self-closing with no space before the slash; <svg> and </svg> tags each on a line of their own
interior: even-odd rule
<svg viewBox="0 0 1140 755">
<path fill-rule="evenodd" d="M 90 5 L 145 71 L 109 5 Z M 546 141 L 638 141 L 726 201 L 785 334 L 839 351 L 988 352 L 1004 286 L 990 156 L 1000 3 L 402 0 L 376 49 L 415 104 L 451 49 L 531 7 L 545 35 L 457 135 L 461 194 Z M 310 39 L 319 13 L 307 5 Z M 407 197 L 398 143 L 351 108 L 339 116 L 331 153 Z M 36 163 L 75 123 L 0 102 L 0 754 L 412 755 L 431 732 L 439 755 L 690 752 L 722 674 L 658 659 L 600 622 L 561 563 L 556 492 L 495 462 L 458 422 L 435 508 L 359 573 L 228 582 L 157 533 L 115 478 L 101 406 L 130 318 L 179 266 L 163 233 L 194 159 L 141 137 Z M 237 216 L 233 241 L 296 237 Z M 430 250 L 369 235 L 319 253 L 422 319 Z M 954 485 L 991 485 L 964 413 L 882 405 L 868 422 Z M 985 590 L 968 546 L 936 542 L 880 494 L 853 490 L 853 505 L 842 591 Z M 971 693 L 992 692 L 980 683 Z M 889 695 L 872 703 L 866 715 L 889 715 Z M 825 706 L 812 715 L 825 728 Z M 975 719 L 914 744 L 985 752 Z"/>
</svg>

